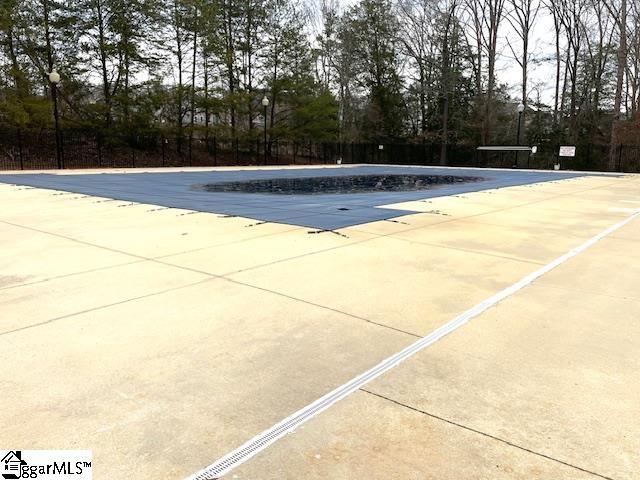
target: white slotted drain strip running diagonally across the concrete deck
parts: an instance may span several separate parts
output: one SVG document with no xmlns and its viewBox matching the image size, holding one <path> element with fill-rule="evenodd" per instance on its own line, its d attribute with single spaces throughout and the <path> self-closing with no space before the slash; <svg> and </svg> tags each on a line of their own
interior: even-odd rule
<svg viewBox="0 0 640 480">
<path fill-rule="evenodd" d="M 387 371 L 396 367 L 397 365 L 402 363 L 404 360 L 412 357 L 413 355 L 423 350 L 424 348 L 428 347 L 429 345 L 437 342 L 445 335 L 448 335 L 449 333 L 460 328 L 462 325 L 469 322 L 472 318 L 477 317 L 478 315 L 485 312 L 486 310 L 493 307 L 494 305 L 498 304 L 502 300 L 510 297 L 514 293 L 530 285 L 531 283 L 533 283 L 535 280 L 537 280 L 547 272 L 553 270 L 554 268 L 563 264 L 567 260 L 585 251 L 586 249 L 593 246 L 598 241 L 602 240 L 604 237 L 622 228 L 627 223 L 631 222 L 632 220 L 634 220 L 639 216 L 640 216 L 640 209 L 636 210 L 633 214 L 631 214 L 621 222 L 616 223 L 615 225 L 607 228 L 606 230 L 602 231 L 596 236 L 590 238 L 580 246 L 573 248 L 572 250 L 556 258 L 552 262 L 530 273 L 529 275 L 526 275 L 525 277 L 523 277 L 513 285 L 505 288 L 504 290 L 501 290 L 495 295 L 487 298 L 486 300 L 480 302 L 474 307 L 461 313 L 460 315 L 455 317 L 453 320 L 440 326 L 439 328 L 431 332 L 429 335 L 420 338 L 419 340 L 412 343 L 411 345 L 401 350 L 400 352 L 386 358 L 385 360 L 378 363 L 373 368 L 349 380 L 347 383 L 341 385 L 340 387 L 320 397 L 313 403 L 310 403 L 306 407 L 303 407 L 302 409 L 298 410 L 297 412 L 293 413 L 292 415 L 288 416 L 284 420 L 280 421 L 279 423 L 275 424 L 269 429 L 263 431 L 262 433 L 259 433 L 258 435 L 248 440 L 237 449 L 228 453 L 227 455 L 220 458 L 219 460 L 216 460 L 211 465 L 192 474 L 191 476 L 187 477 L 185 480 L 212 480 L 212 479 L 219 478 L 221 475 L 228 473 L 232 469 L 238 467 L 242 463 L 246 462 L 247 460 L 255 456 L 260 451 L 267 448 L 269 445 L 271 445 L 272 443 L 274 443 L 275 441 L 277 441 L 287 433 L 295 430 L 297 427 L 299 427 L 303 423 L 307 422 L 314 416 L 318 415 L 319 413 L 323 412 L 327 408 L 331 407 L 334 403 L 342 400 L 343 398 L 347 397 L 354 391 L 358 390 L 363 385 L 369 383 L 370 381 L 379 377 L 383 373 L 386 373 Z"/>
</svg>

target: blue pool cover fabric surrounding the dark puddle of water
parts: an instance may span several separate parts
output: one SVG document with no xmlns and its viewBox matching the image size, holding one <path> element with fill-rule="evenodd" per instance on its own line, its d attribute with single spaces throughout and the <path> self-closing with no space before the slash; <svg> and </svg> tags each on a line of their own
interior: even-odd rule
<svg viewBox="0 0 640 480">
<path fill-rule="evenodd" d="M 207 192 L 194 185 L 269 178 L 304 178 L 337 175 L 455 175 L 482 177 L 470 183 L 437 185 L 428 190 L 278 195 L 269 193 Z M 161 205 L 258 221 L 335 230 L 415 213 L 381 208 L 397 202 L 476 192 L 492 188 L 528 185 L 583 176 L 574 172 L 458 169 L 437 167 L 342 166 L 329 168 L 274 168 L 261 170 L 131 172 L 52 175 L 24 173 L 0 175 L 0 183 Z"/>
</svg>

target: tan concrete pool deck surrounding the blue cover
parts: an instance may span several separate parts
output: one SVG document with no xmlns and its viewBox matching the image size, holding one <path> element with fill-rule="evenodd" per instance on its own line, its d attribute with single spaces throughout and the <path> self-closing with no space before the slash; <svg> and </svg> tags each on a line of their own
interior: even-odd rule
<svg viewBox="0 0 640 480">
<path fill-rule="evenodd" d="M 640 209 L 640 176 L 554 178 L 340 235 L 0 183 L 0 445 L 188 477 Z M 639 242 L 636 217 L 224 478 L 635 478 Z"/>
</svg>

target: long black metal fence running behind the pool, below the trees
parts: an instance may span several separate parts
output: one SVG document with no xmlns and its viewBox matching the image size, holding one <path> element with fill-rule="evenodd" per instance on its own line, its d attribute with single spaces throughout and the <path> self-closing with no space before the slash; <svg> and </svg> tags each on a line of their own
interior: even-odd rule
<svg viewBox="0 0 640 480">
<path fill-rule="evenodd" d="M 311 165 L 373 163 L 441 165 L 436 143 L 315 143 L 172 137 L 163 134 L 104 136 L 63 131 L 62 157 L 56 158 L 55 134 L 49 130 L 0 130 L 0 170 L 56 168 L 133 168 L 228 165 Z M 266 148 L 265 148 L 266 147 Z M 558 145 L 528 152 L 479 152 L 473 145 L 448 145 L 446 165 L 640 172 L 640 146 L 584 144 L 575 157 L 558 158 Z M 266 151 L 265 151 L 266 150 Z"/>
</svg>

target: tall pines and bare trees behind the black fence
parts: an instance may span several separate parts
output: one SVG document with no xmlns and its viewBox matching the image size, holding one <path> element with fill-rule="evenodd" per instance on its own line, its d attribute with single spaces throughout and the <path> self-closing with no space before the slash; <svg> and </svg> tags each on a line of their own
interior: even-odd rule
<svg viewBox="0 0 640 480">
<path fill-rule="evenodd" d="M 531 46 L 543 14 L 548 58 Z M 507 30 L 519 95 L 497 71 Z M 439 142 L 444 160 L 515 143 L 523 103 L 523 142 L 640 143 L 629 0 L 2 0 L 0 41 L 14 128 L 51 127 L 56 70 L 62 127 L 103 134 L 251 140 L 266 121 L 269 139 Z M 529 81 L 543 65 L 550 105 Z"/>
</svg>

